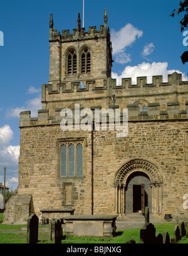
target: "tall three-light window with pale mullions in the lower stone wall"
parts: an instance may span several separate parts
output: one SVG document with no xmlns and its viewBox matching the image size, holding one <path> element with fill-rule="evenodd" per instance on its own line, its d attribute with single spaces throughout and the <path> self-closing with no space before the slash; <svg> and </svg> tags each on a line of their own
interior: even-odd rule
<svg viewBox="0 0 188 256">
<path fill-rule="evenodd" d="M 81 143 L 65 143 L 61 146 L 60 176 L 83 176 L 83 146 Z"/>
</svg>

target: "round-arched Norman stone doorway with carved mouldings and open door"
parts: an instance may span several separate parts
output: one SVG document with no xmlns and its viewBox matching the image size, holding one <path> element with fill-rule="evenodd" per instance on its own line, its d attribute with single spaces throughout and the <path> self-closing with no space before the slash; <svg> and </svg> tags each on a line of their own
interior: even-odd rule
<svg viewBox="0 0 188 256">
<path fill-rule="evenodd" d="M 162 213 L 162 176 L 156 164 L 132 159 L 115 175 L 115 212 L 119 214 Z"/>
</svg>

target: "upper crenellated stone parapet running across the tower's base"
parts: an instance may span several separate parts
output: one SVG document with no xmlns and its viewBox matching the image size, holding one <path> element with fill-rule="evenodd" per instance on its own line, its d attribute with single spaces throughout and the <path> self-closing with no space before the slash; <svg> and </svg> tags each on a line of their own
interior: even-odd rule
<svg viewBox="0 0 188 256">
<path fill-rule="evenodd" d="M 147 83 L 147 77 L 137 77 L 137 84 L 132 85 L 132 78 L 122 78 L 122 85 L 117 85 L 117 80 L 107 78 L 103 80 L 78 80 L 76 82 L 42 85 L 42 102 L 56 100 L 80 99 L 87 97 L 132 97 L 133 95 L 157 95 L 159 93 L 188 93 L 188 81 L 182 81 L 182 74 L 168 75 L 168 82 L 162 82 L 162 75 L 152 77 L 152 83 Z M 172 100 L 174 101 L 174 100 Z"/>
</svg>

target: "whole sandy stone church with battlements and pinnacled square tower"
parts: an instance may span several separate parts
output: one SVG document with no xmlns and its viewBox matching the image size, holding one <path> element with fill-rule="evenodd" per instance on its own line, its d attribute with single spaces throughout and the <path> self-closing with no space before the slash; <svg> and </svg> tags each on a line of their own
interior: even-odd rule
<svg viewBox="0 0 188 256">
<path fill-rule="evenodd" d="M 152 83 L 122 78 L 117 86 L 106 10 L 103 20 L 100 30 L 86 32 L 78 14 L 73 33 L 60 33 L 51 14 L 49 83 L 42 85 L 38 117 L 20 113 L 18 195 L 4 223 L 24 223 L 31 213 L 40 219 L 72 213 L 125 218 L 145 206 L 161 220 L 165 214 L 188 217 L 188 82 L 172 73 L 165 83 L 157 75 Z M 128 133 L 120 137 L 110 129 L 110 114 L 118 113 L 122 124 L 123 109 Z M 100 119 L 87 124 L 93 129 L 81 129 L 95 110 Z"/>
</svg>

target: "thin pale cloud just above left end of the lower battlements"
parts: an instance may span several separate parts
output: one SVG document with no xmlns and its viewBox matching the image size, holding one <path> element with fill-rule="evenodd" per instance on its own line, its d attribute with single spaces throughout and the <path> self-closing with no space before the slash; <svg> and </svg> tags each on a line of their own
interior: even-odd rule
<svg viewBox="0 0 188 256">
<path fill-rule="evenodd" d="M 8 109 L 6 116 L 7 117 L 19 117 L 21 111 L 31 110 L 31 116 L 36 117 L 38 115 L 38 109 L 41 109 L 41 95 L 38 97 L 28 100 L 25 106 L 16 107 L 14 109 Z"/>
</svg>

